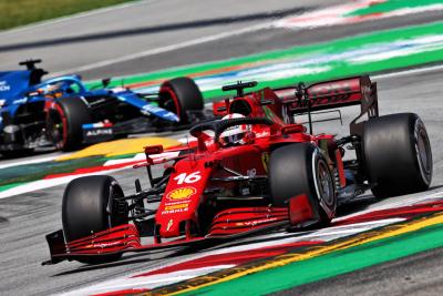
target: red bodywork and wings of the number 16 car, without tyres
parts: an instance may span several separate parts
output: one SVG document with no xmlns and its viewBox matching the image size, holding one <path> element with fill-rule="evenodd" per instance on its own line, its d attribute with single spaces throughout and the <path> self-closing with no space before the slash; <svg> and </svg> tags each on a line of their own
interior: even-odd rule
<svg viewBox="0 0 443 296">
<path fill-rule="evenodd" d="M 358 76 L 317 83 L 307 88 L 306 93 L 310 100 L 310 110 L 361 104 L 361 116 L 367 112 L 378 112 L 374 86 L 368 76 Z M 306 195 L 293 196 L 287 207 L 274 207 L 266 201 L 255 204 L 254 196 L 247 194 L 241 198 L 238 196 L 241 182 L 235 180 L 230 172 L 241 176 L 266 178 L 267 161 L 274 147 L 286 143 L 311 142 L 319 146 L 326 144 L 330 150 L 327 153 L 333 155 L 340 185 L 344 185 L 341 154 L 333 145 L 333 135 L 309 134 L 303 125 L 295 124 L 291 120 L 293 114 L 306 111 L 306 102 L 297 96 L 296 88 L 266 88 L 241 98 L 214 103 L 216 115 L 243 113 L 249 118 L 268 119 L 272 124 L 253 125 L 246 137 L 247 143 L 238 146 L 223 147 L 213 136 L 199 132 L 196 134 L 196 142 L 179 150 L 163 152 L 161 146 L 146 147 L 146 162 L 136 165 L 137 167 L 175 161 L 155 214 L 154 243 L 142 245 L 137 228 L 132 224 L 113 227 L 69 244 L 64 243 L 63 233 L 60 231 L 47 236 L 52 263 L 81 256 L 234 238 L 315 218 Z M 358 126 L 356 122 L 353 124 Z M 358 130 L 352 125 L 351 129 Z M 162 154 L 157 154 L 158 152 Z M 235 202 L 229 201 L 219 206 L 215 204 L 214 196 Z M 165 238 L 168 239 L 165 243 Z"/>
</svg>

